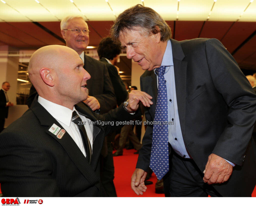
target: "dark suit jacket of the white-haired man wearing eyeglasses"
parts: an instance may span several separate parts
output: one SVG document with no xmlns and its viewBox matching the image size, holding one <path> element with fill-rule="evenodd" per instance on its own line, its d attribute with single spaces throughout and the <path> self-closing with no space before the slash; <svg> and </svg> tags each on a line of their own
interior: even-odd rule
<svg viewBox="0 0 256 206">
<path fill-rule="evenodd" d="M 91 75 L 91 79 L 87 80 L 87 89 L 89 95 L 94 96 L 100 103 L 100 114 L 104 114 L 116 106 L 116 97 L 114 89 L 109 78 L 108 69 L 102 62 L 84 55 L 83 68 Z M 37 91 L 32 85 L 27 99 L 27 105 L 30 107 Z"/>
</svg>

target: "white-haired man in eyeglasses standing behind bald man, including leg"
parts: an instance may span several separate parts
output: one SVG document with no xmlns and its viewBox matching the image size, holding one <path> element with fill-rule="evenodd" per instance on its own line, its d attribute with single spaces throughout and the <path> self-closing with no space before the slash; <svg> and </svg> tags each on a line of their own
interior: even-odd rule
<svg viewBox="0 0 256 206">
<path fill-rule="evenodd" d="M 91 75 L 87 81 L 88 98 L 83 101 L 96 113 L 106 113 L 116 107 L 116 97 L 104 63 L 84 54 L 89 45 L 89 28 L 81 16 L 67 16 L 61 20 L 60 29 L 66 46 L 74 49 L 83 60 L 84 69 Z M 106 196 L 116 197 L 114 186 L 114 163 L 112 148 L 107 146 L 107 137 L 101 151 L 101 181 Z"/>
</svg>

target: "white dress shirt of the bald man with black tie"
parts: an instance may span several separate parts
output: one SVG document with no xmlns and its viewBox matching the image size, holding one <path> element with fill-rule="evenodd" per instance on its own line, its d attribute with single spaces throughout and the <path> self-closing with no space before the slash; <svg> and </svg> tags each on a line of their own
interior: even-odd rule
<svg viewBox="0 0 256 206">
<path fill-rule="evenodd" d="M 66 130 L 66 132 L 72 137 L 74 142 L 77 144 L 79 149 L 82 151 L 83 155 L 86 157 L 86 152 L 83 146 L 83 141 L 79 132 L 79 128 L 75 123 L 71 121 L 72 118 L 72 112 L 77 111 L 75 107 L 73 107 L 73 110 L 68 109 L 67 107 L 61 106 L 59 104 L 55 104 L 53 102 L 50 102 L 40 96 L 38 96 L 38 102 L 60 123 L 60 125 Z M 82 120 L 82 124 L 84 125 L 84 128 L 86 129 L 87 136 L 89 138 L 89 141 L 93 143 L 93 125 L 89 124 L 91 120 L 87 119 L 85 116 L 80 114 L 77 111 L 78 115 L 80 116 Z"/>
</svg>

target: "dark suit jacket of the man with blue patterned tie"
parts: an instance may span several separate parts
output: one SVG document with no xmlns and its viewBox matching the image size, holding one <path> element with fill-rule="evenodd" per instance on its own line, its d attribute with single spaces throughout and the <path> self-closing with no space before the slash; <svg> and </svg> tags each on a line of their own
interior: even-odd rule
<svg viewBox="0 0 256 206">
<path fill-rule="evenodd" d="M 217 39 L 171 39 L 171 44 L 179 121 L 189 154 L 201 171 L 211 153 L 235 163 L 230 179 L 214 187 L 223 196 L 251 195 L 256 184 L 254 91 Z M 141 91 L 153 97 L 154 104 L 145 111 L 146 120 L 153 121 L 156 75 L 145 71 L 140 80 Z M 148 125 L 137 168 L 149 167 L 152 133 L 153 125 Z"/>
</svg>

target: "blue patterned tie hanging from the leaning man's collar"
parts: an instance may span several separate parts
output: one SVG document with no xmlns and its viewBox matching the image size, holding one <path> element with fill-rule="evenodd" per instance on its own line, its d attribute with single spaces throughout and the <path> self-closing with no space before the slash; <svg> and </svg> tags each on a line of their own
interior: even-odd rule
<svg viewBox="0 0 256 206">
<path fill-rule="evenodd" d="M 163 124 L 168 122 L 167 91 L 164 79 L 165 66 L 161 66 L 155 71 L 158 76 L 158 93 L 153 126 L 150 168 L 155 173 L 157 179 L 161 180 L 169 170 L 168 124 Z"/>
</svg>

